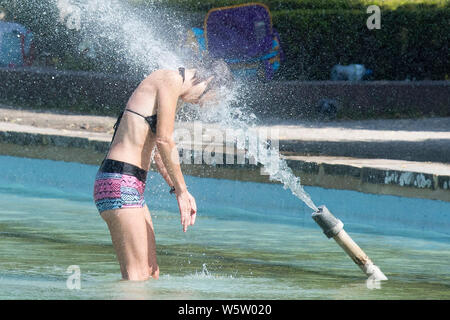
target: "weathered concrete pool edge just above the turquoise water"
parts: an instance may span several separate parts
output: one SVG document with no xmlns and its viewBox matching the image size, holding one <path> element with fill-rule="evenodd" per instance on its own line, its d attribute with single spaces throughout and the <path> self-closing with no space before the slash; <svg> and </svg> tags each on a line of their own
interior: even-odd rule
<svg viewBox="0 0 450 320">
<path fill-rule="evenodd" d="M 98 165 L 109 145 L 108 138 L 92 133 L 74 136 L 67 130 L 35 129 L 34 132 L 0 130 L 0 154 Z M 77 159 L 73 158 L 74 152 Z M 401 160 L 336 157 L 284 158 L 305 186 L 450 202 L 450 165 L 447 164 L 433 166 Z M 272 183 L 259 166 L 251 164 L 183 164 L 182 170 L 192 176 Z"/>
</svg>

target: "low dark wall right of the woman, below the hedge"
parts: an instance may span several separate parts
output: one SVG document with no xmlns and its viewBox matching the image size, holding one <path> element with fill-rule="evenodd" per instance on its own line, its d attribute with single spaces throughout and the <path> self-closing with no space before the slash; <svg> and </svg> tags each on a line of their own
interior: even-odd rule
<svg viewBox="0 0 450 320">
<path fill-rule="evenodd" d="M 322 99 L 335 100 L 349 117 L 450 116 L 449 81 L 272 82 L 249 87 L 245 96 L 261 118 L 315 117 Z"/>
</svg>

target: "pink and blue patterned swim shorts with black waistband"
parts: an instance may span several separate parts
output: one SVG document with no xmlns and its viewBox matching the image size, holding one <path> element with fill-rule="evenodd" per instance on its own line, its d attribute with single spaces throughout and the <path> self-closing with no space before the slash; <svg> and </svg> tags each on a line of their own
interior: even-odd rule
<svg viewBox="0 0 450 320">
<path fill-rule="evenodd" d="M 94 184 L 94 201 L 99 213 L 120 208 L 142 208 L 147 171 L 132 164 L 103 160 Z"/>
</svg>

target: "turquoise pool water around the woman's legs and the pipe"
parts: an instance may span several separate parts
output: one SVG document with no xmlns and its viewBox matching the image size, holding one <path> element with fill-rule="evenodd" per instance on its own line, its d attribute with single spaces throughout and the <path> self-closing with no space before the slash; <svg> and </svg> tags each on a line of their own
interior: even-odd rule
<svg viewBox="0 0 450 320">
<path fill-rule="evenodd" d="M 377 288 L 278 184 L 186 177 L 196 225 L 150 173 L 160 279 L 120 281 L 96 166 L 0 156 L 0 299 L 450 299 L 450 203 L 306 187 L 381 268 Z M 67 268 L 81 272 L 70 290 Z"/>
</svg>

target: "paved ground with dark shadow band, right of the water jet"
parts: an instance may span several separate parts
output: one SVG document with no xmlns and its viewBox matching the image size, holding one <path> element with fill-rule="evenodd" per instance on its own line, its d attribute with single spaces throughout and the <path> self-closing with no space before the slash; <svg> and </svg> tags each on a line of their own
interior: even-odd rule
<svg viewBox="0 0 450 320">
<path fill-rule="evenodd" d="M 293 154 L 450 163 L 450 118 L 275 125 Z"/>
</svg>

